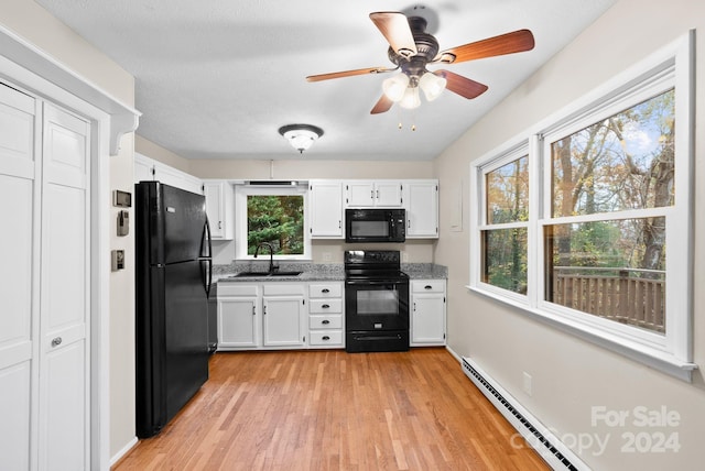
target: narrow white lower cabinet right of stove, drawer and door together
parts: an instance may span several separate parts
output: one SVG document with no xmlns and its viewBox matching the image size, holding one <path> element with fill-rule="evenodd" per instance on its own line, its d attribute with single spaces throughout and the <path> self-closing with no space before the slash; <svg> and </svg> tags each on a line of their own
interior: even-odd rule
<svg viewBox="0 0 705 471">
<path fill-rule="evenodd" d="M 445 280 L 411 282 L 411 346 L 445 346 Z"/>
</svg>

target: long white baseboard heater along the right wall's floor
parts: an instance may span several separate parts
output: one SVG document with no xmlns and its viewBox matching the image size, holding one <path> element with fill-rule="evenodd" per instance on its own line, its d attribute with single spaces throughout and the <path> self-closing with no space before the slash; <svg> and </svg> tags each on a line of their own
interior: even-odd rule
<svg viewBox="0 0 705 471">
<path fill-rule="evenodd" d="M 551 468 L 572 471 L 589 470 L 570 448 L 521 407 L 507 391 L 492 381 L 490 376 L 467 357 L 462 359 L 463 372 L 478 390 L 492 403 L 532 448 L 549 463 Z"/>
</svg>

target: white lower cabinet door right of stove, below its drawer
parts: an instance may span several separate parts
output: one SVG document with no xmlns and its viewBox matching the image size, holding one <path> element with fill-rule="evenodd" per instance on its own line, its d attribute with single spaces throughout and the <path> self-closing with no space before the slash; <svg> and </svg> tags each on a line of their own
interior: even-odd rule
<svg viewBox="0 0 705 471">
<path fill-rule="evenodd" d="M 445 343 L 445 298 L 441 294 L 413 294 L 411 342 Z"/>
</svg>

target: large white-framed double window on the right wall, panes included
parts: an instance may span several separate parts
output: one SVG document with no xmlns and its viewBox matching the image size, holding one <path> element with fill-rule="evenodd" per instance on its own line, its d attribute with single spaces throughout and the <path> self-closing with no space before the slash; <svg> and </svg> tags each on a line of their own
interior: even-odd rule
<svg viewBox="0 0 705 471">
<path fill-rule="evenodd" d="M 684 379 L 694 368 L 690 43 L 471 174 L 471 288 Z"/>
</svg>

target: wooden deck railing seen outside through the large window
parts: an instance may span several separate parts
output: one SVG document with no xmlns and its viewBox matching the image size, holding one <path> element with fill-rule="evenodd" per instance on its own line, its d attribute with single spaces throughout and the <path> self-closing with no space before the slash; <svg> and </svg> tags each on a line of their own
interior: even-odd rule
<svg viewBox="0 0 705 471">
<path fill-rule="evenodd" d="M 555 266 L 553 303 L 621 324 L 665 331 L 664 272 Z"/>
</svg>

